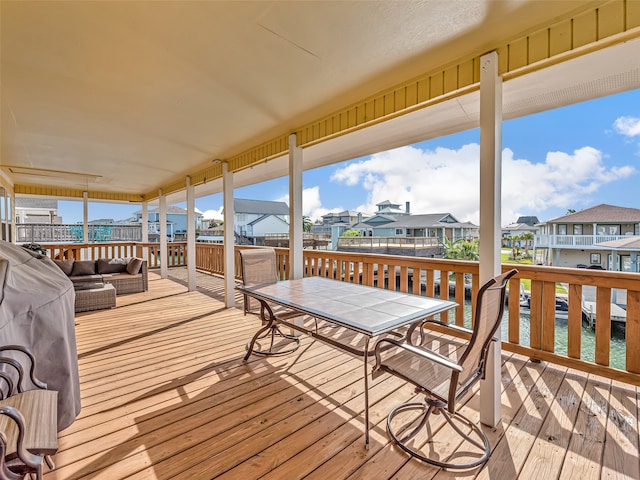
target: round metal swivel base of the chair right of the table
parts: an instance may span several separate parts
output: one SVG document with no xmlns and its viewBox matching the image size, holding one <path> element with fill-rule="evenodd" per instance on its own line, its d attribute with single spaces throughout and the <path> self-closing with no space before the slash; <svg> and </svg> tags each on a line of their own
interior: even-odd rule
<svg viewBox="0 0 640 480">
<path fill-rule="evenodd" d="M 394 419 L 403 413 L 406 414 L 405 417 L 407 418 L 403 419 L 399 425 L 396 425 L 398 422 L 394 423 Z M 414 415 L 410 415 L 411 413 L 414 413 Z M 441 460 L 433 451 L 430 453 L 424 451 L 426 448 L 432 449 L 434 446 L 435 435 L 429 424 L 429 420 L 434 415 L 444 416 L 444 419 L 459 436 L 458 445 L 462 447 L 465 457 L 473 456 L 473 460 L 455 462 L 454 459 L 457 454 L 454 450 L 460 450 L 461 447 L 453 441 L 450 442 L 454 444 L 452 451 L 448 452 L 448 455 L 443 455 L 443 457 L 449 457 L 448 461 Z M 461 428 L 460 425 L 463 427 Z M 422 440 L 416 439 L 417 435 L 425 429 L 427 432 L 425 438 Z M 464 430 L 467 430 L 468 433 Z M 483 465 L 491 453 L 489 439 L 478 424 L 458 412 L 452 415 L 446 409 L 444 402 L 431 398 L 426 398 L 424 402 L 403 403 L 395 407 L 387 417 L 387 431 L 396 445 L 406 453 L 440 468 L 451 470 L 475 468 Z"/>
</svg>

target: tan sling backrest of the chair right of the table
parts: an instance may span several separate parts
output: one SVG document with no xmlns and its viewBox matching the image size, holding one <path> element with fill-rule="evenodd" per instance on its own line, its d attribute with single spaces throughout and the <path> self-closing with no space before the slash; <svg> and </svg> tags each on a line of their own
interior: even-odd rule
<svg viewBox="0 0 640 480">
<path fill-rule="evenodd" d="M 518 273 L 517 270 L 510 270 L 490 279 L 480 287 L 476 299 L 473 334 L 459 359 L 459 364 L 464 370 L 458 375 L 457 381 L 451 382 L 450 408 L 453 408 L 455 397 L 459 398 L 475 381 L 484 377 L 487 351 L 491 339 L 500 328 L 504 313 L 507 281 L 516 273 Z"/>
</svg>

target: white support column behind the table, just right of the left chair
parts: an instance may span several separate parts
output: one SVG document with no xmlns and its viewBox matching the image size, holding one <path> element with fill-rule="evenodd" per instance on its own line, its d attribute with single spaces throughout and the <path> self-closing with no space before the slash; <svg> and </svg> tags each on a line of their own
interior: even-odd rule
<svg viewBox="0 0 640 480">
<path fill-rule="evenodd" d="M 296 135 L 289 135 L 289 276 L 303 277 L 302 240 L 302 148 Z M 281 279 L 283 280 L 283 279 Z"/>
</svg>

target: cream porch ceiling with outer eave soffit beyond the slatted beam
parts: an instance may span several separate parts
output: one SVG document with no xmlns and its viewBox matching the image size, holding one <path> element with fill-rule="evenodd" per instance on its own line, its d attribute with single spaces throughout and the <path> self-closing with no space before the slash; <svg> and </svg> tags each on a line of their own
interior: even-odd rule
<svg viewBox="0 0 640 480">
<path fill-rule="evenodd" d="M 2 1 L 1 179 L 153 196 L 212 159 L 603 3 Z M 513 75 L 505 117 L 637 88 L 637 36 Z M 305 168 L 476 127 L 478 109 L 471 92 L 317 143 Z M 237 184 L 285 174 L 275 159 Z"/>
</svg>

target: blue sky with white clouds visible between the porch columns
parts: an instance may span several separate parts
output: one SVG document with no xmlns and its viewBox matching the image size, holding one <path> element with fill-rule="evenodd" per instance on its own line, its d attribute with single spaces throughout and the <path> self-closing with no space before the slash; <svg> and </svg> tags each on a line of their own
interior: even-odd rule
<svg viewBox="0 0 640 480">
<path fill-rule="evenodd" d="M 478 223 L 479 130 L 310 170 L 303 213 L 373 213 L 384 200 L 412 213 L 452 213 Z M 502 223 L 541 221 L 601 203 L 640 208 L 640 90 L 503 124 Z M 287 177 L 238 188 L 237 198 L 288 203 Z M 184 207 L 184 204 L 178 205 Z M 205 218 L 222 218 L 222 195 L 196 199 Z M 89 219 L 125 219 L 139 206 L 89 204 Z M 81 202 L 59 202 L 65 223 L 82 221 Z"/>
</svg>

